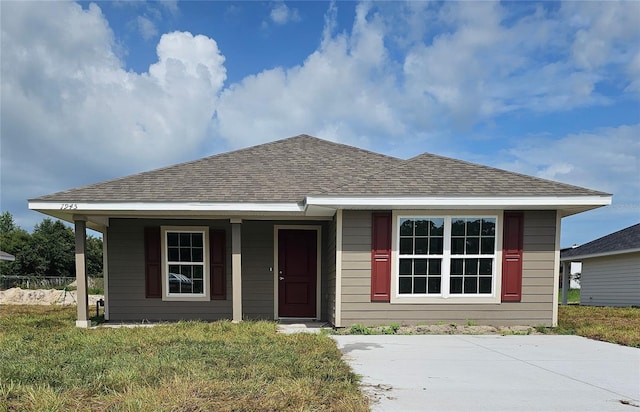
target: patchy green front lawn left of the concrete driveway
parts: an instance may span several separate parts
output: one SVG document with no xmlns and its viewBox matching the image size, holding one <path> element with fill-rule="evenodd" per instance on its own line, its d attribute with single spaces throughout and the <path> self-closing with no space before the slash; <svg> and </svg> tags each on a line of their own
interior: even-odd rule
<svg viewBox="0 0 640 412">
<path fill-rule="evenodd" d="M 271 322 L 77 329 L 75 307 L 0 307 L 0 411 L 366 411 L 333 340 Z"/>
</svg>

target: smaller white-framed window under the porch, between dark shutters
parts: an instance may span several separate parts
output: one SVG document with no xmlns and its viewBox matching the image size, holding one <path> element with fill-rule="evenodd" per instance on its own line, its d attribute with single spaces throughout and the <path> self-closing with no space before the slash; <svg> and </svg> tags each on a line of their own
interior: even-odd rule
<svg viewBox="0 0 640 412">
<path fill-rule="evenodd" d="M 162 299 L 210 299 L 209 228 L 163 226 Z"/>
</svg>

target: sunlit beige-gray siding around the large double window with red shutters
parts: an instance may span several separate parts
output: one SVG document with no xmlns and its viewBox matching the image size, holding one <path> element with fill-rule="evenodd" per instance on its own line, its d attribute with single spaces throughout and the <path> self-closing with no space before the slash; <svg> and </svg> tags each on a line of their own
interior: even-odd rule
<svg viewBox="0 0 640 412">
<path fill-rule="evenodd" d="M 522 301 L 499 304 L 371 302 L 371 213 L 345 211 L 343 215 L 341 326 L 467 320 L 490 325 L 551 325 L 555 211 L 525 212 Z"/>
</svg>

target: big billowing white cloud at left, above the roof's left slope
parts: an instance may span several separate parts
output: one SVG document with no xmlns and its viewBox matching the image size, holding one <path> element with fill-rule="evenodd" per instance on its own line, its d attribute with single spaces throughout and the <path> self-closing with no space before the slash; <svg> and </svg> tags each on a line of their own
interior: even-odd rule
<svg viewBox="0 0 640 412">
<path fill-rule="evenodd" d="M 164 34 L 158 62 L 138 74 L 114 54 L 95 4 L 2 9 L 3 203 L 191 159 L 208 144 L 226 78 L 214 40 Z"/>
</svg>

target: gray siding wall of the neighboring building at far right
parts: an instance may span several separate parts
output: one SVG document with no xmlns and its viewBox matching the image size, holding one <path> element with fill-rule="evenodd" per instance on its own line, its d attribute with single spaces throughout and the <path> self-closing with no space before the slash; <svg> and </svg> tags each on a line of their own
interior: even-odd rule
<svg viewBox="0 0 640 412">
<path fill-rule="evenodd" d="M 640 252 L 584 259 L 580 304 L 640 306 Z"/>
</svg>

